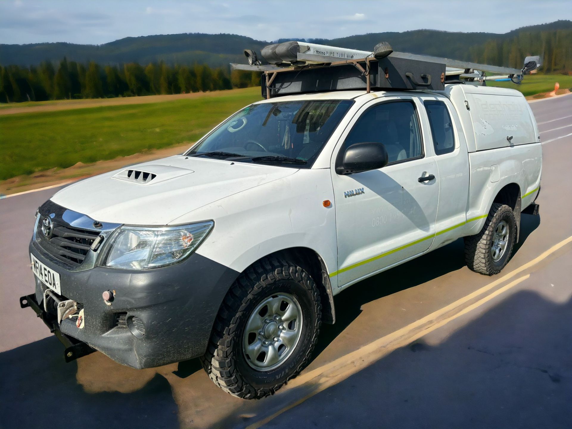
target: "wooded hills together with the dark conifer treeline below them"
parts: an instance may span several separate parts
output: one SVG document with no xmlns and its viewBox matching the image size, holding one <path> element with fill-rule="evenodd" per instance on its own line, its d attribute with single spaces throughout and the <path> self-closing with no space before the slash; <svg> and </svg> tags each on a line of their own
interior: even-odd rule
<svg viewBox="0 0 572 429">
<path fill-rule="evenodd" d="M 388 41 L 396 51 L 517 69 L 523 66 L 527 55 L 542 55 L 542 72 L 572 72 L 571 21 L 522 27 L 505 34 L 414 30 L 308 41 L 361 50 Z M 129 37 L 100 46 L 0 44 L 3 63 L 30 65 L 0 67 L 0 102 L 178 94 L 257 86 L 258 73 L 231 73 L 227 65 L 245 62 L 241 47 L 260 53 L 267 43 L 233 34 L 196 33 Z M 38 62 L 39 55 L 48 59 Z M 76 61 L 59 61 L 64 55 Z M 225 65 L 218 67 L 221 63 Z"/>
</svg>

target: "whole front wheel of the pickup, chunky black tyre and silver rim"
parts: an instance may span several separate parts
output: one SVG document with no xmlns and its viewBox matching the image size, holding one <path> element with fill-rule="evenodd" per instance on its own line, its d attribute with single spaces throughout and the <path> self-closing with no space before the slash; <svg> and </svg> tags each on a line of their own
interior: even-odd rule
<svg viewBox="0 0 572 429">
<path fill-rule="evenodd" d="M 312 277 L 288 261 L 263 259 L 227 293 L 202 366 L 229 394 L 263 398 L 303 370 L 320 323 Z"/>
</svg>

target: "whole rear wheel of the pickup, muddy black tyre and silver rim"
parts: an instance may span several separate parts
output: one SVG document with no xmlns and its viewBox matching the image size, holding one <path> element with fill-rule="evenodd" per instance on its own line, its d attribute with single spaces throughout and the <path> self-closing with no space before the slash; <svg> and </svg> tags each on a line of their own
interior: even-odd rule
<svg viewBox="0 0 572 429">
<path fill-rule="evenodd" d="M 464 237 L 467 267 L 487 276 L 501 272 L 513 253 L 516 230 L 513 209 L 492 204 L 483 229 L 477 235 Z"/>
</svg>

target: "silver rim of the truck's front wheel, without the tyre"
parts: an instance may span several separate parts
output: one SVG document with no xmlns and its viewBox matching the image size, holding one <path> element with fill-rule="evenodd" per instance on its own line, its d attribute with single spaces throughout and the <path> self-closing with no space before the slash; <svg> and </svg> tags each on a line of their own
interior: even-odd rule
<svg viewBox="0 0 572 429">
<path fill-rule="evenodd" d="M 302 309 L 285 292 L 262 300 L 248 317 L 243 335 L 243 353 L 257 371 L 279 367 L 292 354 L 302 333 Z"/>
</svg>

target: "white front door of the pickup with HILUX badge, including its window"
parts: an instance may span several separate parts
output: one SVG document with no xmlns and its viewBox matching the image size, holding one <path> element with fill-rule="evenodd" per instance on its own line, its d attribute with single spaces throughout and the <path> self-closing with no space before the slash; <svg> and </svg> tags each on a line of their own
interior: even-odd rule
<svg viewBox="0 0 572 429">
<path fill-rule="evenodd" d="M 331 174 L 338 268 L 330 275 L 338 277 L 339 287 L 426 251 L 434 239 L 439 173 L 431 147 L 424 145 L 420 109 L 419 100 L 407 96 L 368 103 L 336 146 Z M 359 142 L 383 143 L 389 163 L 337 174 L 336 162 Z"/>
</svg>

